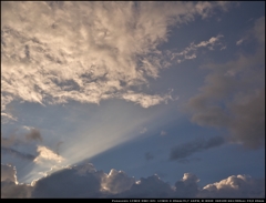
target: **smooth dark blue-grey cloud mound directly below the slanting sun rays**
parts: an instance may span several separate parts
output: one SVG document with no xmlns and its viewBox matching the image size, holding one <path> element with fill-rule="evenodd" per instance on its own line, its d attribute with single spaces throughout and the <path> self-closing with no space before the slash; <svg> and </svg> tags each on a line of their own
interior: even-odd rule
<svg viewBox="0 0 266 203">
<path fill-rule="evenodd" d="M 103 172 L 92 168 L 63 169 L 35 182 L 33 197 L 98 197 L 101 196 Z"/>
</svg>

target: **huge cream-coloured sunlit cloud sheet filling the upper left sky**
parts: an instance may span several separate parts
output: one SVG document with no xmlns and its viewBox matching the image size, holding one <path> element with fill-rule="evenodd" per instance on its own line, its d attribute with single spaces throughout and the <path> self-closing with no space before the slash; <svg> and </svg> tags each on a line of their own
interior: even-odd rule
<svg viewBox="0 0 266 203">
<path fill-rule="evenodd" d="M 217 2 L 1 2 L 1 115 L 13 100 L 42 105 L 124 99 L 149 108 L 170 97 L 141 91 L 166 60 L 171 26 L 207 18 Z M 193 55 L 192 55 L 193 58 Z M 139 91 L 133 91 L 139 89 Z M 14 119 L 14 118 L 13 118 Z"/>
</svg>

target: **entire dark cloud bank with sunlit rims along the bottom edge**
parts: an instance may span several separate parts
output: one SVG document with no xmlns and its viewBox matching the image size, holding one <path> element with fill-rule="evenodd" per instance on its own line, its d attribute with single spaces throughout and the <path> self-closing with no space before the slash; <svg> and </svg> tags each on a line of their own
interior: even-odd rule
<svg viewBox="0 0 266 203">
<path fill-rule="evenodd" d="M 16 169 L 2 165 L 1 197 L 264 197 L 265 180 L 247 175 L 232 175 L 225 180 L 197 185 L 198 177 L 185 173 L 174 186 L 157 175 L 135 181 L 122 171 L 109 174 L 96 171 L 92 164 L 65 168 L 49 173 L 31 185 L 17 184 Z M 13 179 L 16 180 L 16 177 Z"/>
</svg>

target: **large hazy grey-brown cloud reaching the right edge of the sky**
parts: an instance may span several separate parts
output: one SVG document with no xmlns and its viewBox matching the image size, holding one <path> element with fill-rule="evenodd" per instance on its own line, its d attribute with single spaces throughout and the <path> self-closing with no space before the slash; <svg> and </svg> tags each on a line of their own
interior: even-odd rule
<svg viewBox="0 0 266 203">
<path fill-rule="evenodd" d="M 264 18 L 256 20 L 252 32 L 262 42 Z M 209 74 L 200 93 L 186 104 L 191 120 L 200 125 L 226 128 L 232 142 L 248 149 L 265 142 L 265 43 L 253 55 L 238 54 L 224 64 L 205 64 Z"/>
</svg>

